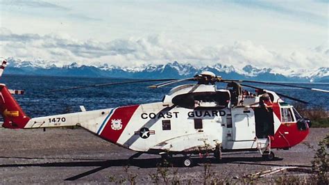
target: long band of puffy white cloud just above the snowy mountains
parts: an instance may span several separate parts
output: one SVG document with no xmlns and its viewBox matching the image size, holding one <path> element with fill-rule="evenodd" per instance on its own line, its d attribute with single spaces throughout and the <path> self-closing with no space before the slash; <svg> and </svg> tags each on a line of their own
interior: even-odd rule
<svg viewBox="0 0 329 185">
<path fill-rule="evenodd" d="M 129 66 L 148 63 L 180 61 L 197 65 L 223 63 L 242 68 L 244 65 L 292 69 L 317 69 L 328 67 L 328 45 L 314 49 L 280 54 L 251 41 L 239 41 L 233 45 L 203 46 L 171 40 L 164 35 L 146 38 L 130 38 L 101 42 L 76 40 L 56 34 L 15 34 L 0 29 L 1 53 L 5 58 L 19 57 L 60 63 L 109 63 Z"/>
</svg>

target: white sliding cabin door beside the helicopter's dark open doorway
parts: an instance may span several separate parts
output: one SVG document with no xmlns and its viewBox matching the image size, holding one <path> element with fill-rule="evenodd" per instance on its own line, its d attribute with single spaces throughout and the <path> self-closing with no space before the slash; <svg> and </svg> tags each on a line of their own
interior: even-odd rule
<svg viewBox="0 0 329 185">
<path fill-rule="evenodd" d="M 251 108 L 232 108 L 233 140 L 255 139 L 255 118 Z"/>
</svg>

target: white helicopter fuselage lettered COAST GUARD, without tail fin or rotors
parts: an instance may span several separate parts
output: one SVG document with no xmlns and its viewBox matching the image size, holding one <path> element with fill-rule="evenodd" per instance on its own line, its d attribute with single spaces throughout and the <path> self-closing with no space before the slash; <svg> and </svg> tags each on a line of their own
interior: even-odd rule
<svg viewBox="0 0 329 185">
<path fill-rule="evenodd" d="M 193 153 L 205 146 L 214 149 L 219 145 L 223 151 L 271 147 L 269 143 L 273 138 L 256 136 L 255 107 L 258 106 L 259 97 L 241 95 L 239 102 L 244 99 L 246 103 L 239 106 L 232 106 L 230 102 L 225 107 L 212 102 L 197 102 L 199 105 L 194 108 L 173 104 L 173 98 L 178 95 L 199 92 L 230 93 L 228 90 L 217 90 L 212 85 L 178 86 L 166 95 L 163 102 L 33 118 L 24 128 L 78 125 L 122 147 L 153 154 Z M 280 107 L 282 100 L 275 93 L 271 94 L 276 102 L 273 104 Z M 272 113 L 273 136 L 278 135 L 278 140 L 282 140 L 281 137 L 287 140 L 289 131 L 279 131 L 280 127 L 285 126 L 282 126 L 280 108 L 276 109 L 279 113 Z M 292 120 L 292 124 L 296 124 L 296 118 Z M 294 142 L 280 142 L 274 143 L 273 147 L 296 145 Z"/>
</svg>

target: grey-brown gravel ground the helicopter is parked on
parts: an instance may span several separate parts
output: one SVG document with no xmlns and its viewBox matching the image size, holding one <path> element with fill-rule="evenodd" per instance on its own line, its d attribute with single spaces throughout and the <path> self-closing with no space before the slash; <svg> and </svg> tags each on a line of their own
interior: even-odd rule
<svg viewBox="0 0 329 185">
<path fill-rule="evenodd" d="M 311 129 L 305 142 L 317 146 L 329 128 Z M 157 168 L 158 156 L 143 154 L 130 163 L 135 152 L 94 136 L 84 129 L 3 129 L 0 127 L 0 184 L 113 184 L 135 177 L 139 184 L 155 182 L 157 171 L 169 179 L 203 182 L 205 170 L 212 178 L 235 177 L 278 166 L 309 168 L 314 151 L 299 144 L 290 150 L 273 150 L 275 161 L 262 161 L 255 152 L 223 154 L 221 162 L 201 160 L 192 168 Z M 207 161 L 212 161 L 211 166 Z M 168 170 L 168 171 L 166 171 Z M 280 173 L 282 175 L 282 173 Z M 294 175 L 299 175 L 294 172 Z M 152 177 L 153 176 L 153 177 Z M 274 178 L 276 176 L 271 176 Z M 128 183 L 128 182 L 126 182 Z"/>
</svg>

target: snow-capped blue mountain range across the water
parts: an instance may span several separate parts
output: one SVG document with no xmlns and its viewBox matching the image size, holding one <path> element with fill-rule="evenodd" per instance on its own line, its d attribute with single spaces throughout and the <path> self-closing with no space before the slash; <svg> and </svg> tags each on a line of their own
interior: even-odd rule
<svg viewBox="0 0 329 185">
<path fill-rule="evenodd" d="M 142 65 L 139 67 L 119 67 L 115 65 L 79 65 L 71 63 L 58 67 L 49 61 L 22 61 L 16 58 L 7 58 L 8 67 L 6 74 L 27 74 L 42 76 L 64 77 L 110 77 L 125 79 L 168 79 L 193 77 L 203 71 L 214 72 L 224 79 L 249 79 L 259 81 L 298 81 L 298 82 L 329 82 L 329 67 L 319 67 L 316 70 L 292 69 L 276 72 L 271 68 L 258 68 L 246 65 L 237 69 L 233 65 L 216 63 L 205 67 L 197 67 L 191 64 L 182 64 L 174 61 L 165 65 Z"/>
</svg>

